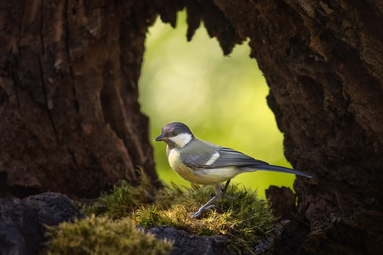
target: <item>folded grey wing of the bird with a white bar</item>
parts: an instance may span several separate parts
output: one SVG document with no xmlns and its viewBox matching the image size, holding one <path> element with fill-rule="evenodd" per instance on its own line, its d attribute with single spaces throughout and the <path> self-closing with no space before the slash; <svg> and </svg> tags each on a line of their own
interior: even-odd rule
<svg viewBox="0 0 383 255">
<path fill-rule="evenodd" d="M 216 169 L 226 166 L 254 166 L 257 164 L 267 164 L 257 159 L 253 159 L 246 154 L 218 145 L 213 145 L 209 142 L 199 140 L 209 146 L 194 146 L 191 149 L 185 147 L 185 153 L 182 153 L 182 163 L 193 169 Z"/>
</svg>

